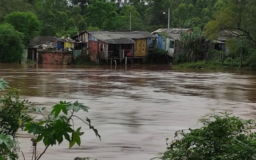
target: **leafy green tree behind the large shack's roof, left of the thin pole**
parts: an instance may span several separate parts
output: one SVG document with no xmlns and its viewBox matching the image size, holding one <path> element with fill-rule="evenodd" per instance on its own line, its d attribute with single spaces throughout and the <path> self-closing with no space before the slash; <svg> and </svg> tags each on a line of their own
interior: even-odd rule
<svg viewBox="0 0 256 160">
<path fill-rule="evenodd" d="M 114 2 L 92 0 L 87 10 L 86 19 L 90 26 L 102 30 L 114 30 L 116 28 L 119 16 Z"/>
</svg>

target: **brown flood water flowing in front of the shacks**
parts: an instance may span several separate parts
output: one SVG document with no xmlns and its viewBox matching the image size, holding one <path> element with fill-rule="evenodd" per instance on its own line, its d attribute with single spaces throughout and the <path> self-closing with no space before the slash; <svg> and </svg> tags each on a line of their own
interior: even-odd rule
<svg viewBox="0 0 256 160">
<path fill-rule="evenodd" d="M 166 148 L 164 137 L 180 129 L 196 128 L 198 118 L 211 109 L 232 110 L 242 118 L 256 118 L 256 72 L 172 70 L 170 65 L 55 66 L 0 64 L 0 77 L 19 88 L 22 97 L 38 107 L 59 100 L 90 107 L 89 117 L 101 140 L 81 121 L 81 147 L 65 141 L 50 147 L 42 160 L 149 160 Z M 40 118 L 40 115 L 36 115 Z M 19 133 L 21 150 L 31 157 L 31 136 Z M 40 149 L 41 148 L 41 149 Z M 43 145 L 38 151 L 42 152 Z M 22 158 L 20 158 L 22 159 Z M 27 158 L 28 159 L 28 158 Z"/>
</svg>

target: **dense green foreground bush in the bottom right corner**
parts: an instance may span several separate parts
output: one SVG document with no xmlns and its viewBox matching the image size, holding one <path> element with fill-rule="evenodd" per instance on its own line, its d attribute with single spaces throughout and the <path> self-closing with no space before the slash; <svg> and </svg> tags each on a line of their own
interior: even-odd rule
<svg viewBox="0 0 256 160">
<path fill-rule="evenodd" d="M 199 119 L 203 127 L 180 130 L 167 150 L 159 155 L 163 160 L 220 160 L 256 158 L 255 120 L 243 120 L 230 112 L 209 113 Z M 166 139 L 168 140 L 168 139 Z"/>
</svg>

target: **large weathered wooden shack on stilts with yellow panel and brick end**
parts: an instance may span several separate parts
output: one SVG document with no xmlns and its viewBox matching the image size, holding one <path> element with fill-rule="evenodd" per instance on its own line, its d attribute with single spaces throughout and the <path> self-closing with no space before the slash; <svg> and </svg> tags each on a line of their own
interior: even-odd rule
<svg viewBox="0 0 256 160">
<path fill-rule="evenodd" d="M 156 47 L 156 37 L 147 31 L 84 31 L 73 38 L 88 46 L 87 52 L 94 62 L 143 59 L 148 48 Z"/>
</svg>

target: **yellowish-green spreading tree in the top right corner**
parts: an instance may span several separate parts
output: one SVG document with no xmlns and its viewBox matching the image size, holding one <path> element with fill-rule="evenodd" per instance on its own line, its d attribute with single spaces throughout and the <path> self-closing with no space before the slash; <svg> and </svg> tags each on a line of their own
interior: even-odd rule
<svg viewBox="0 0 256 160">
<path fill-rule="evenodd" d="M 223 7 L 213 14 L 213 20 L 206 25 L 206 34 L 210 38 L 216 38 L 218 33 L 224 29 L 238 30 L 244 34 L 237 36 L 246 36 L 254 44 L 256 43 L 256 8 L 255 1 L 250 0 L 229 0 Z M 234 33 L 236 34 L 236 33 Z"/>
</svg>

